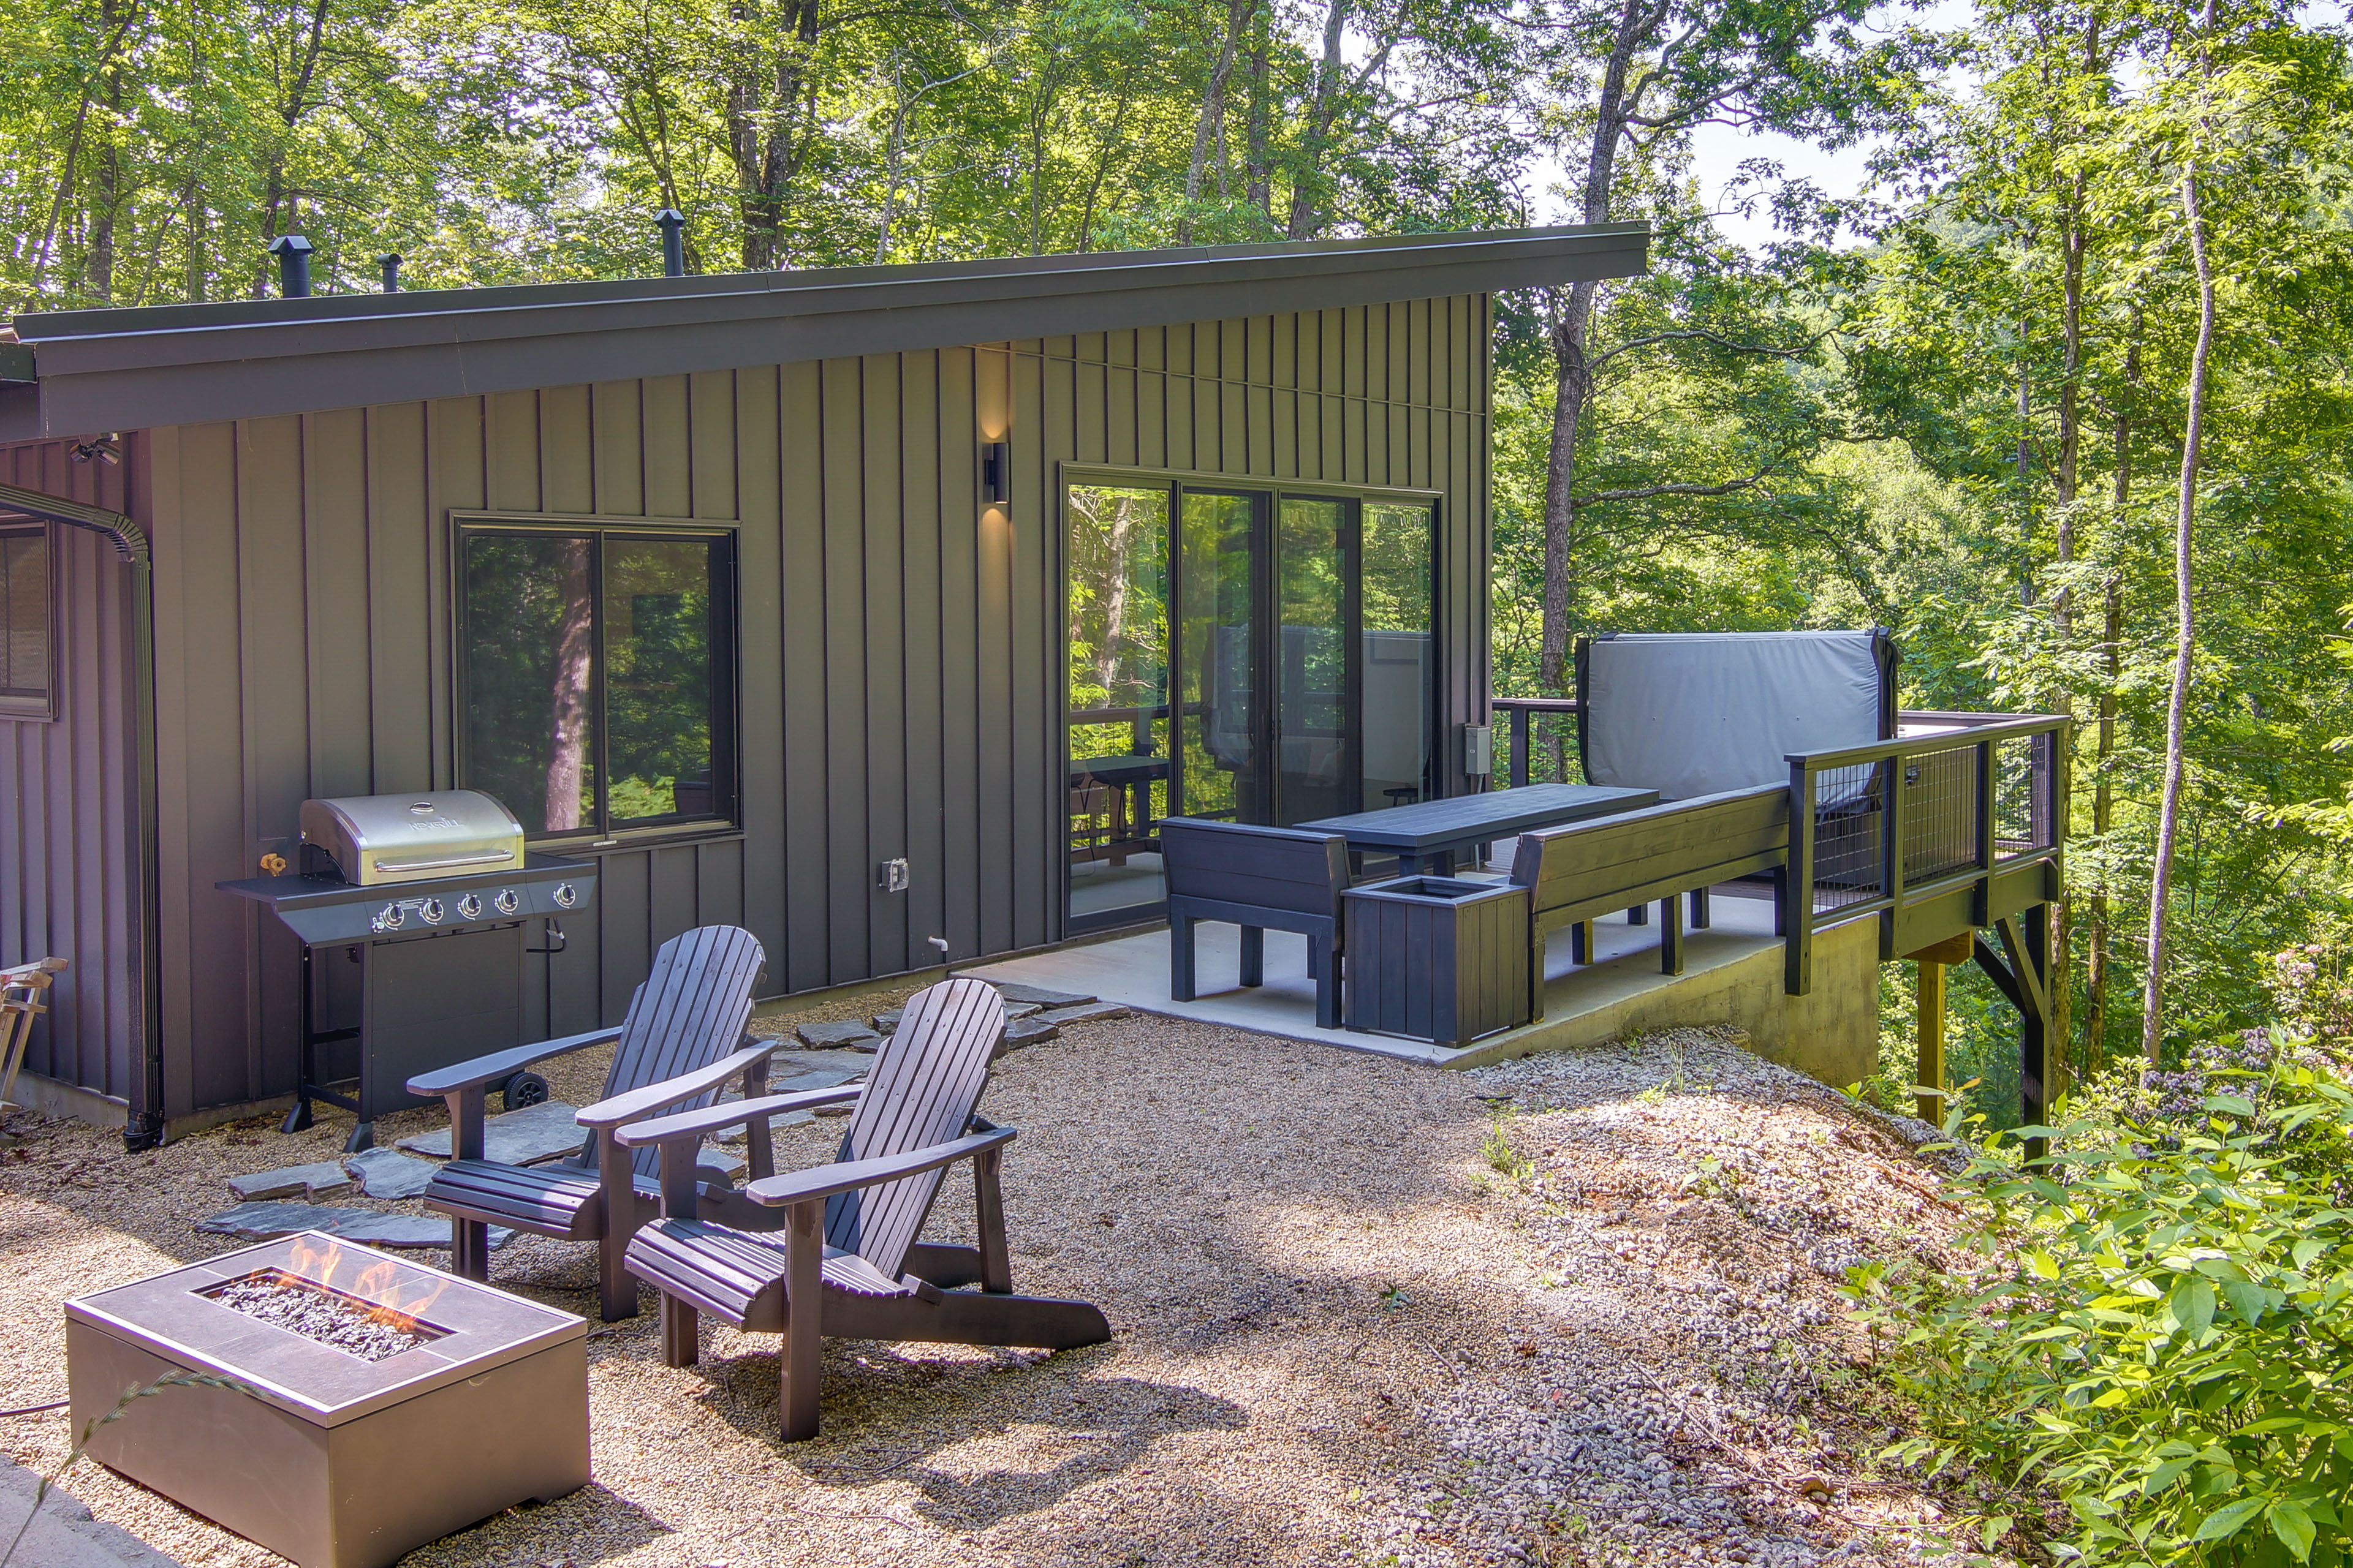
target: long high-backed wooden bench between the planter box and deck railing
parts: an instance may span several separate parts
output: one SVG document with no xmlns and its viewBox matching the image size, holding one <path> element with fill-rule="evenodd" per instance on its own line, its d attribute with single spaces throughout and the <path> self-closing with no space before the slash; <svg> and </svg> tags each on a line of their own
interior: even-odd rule
<svg viewBox="0 0 2353 1568">
<path fill-rule="evenodd" d="M 1647 806 L 1567 827 L 1522 832 L 1513 886 L 1527 889 L 1529 987 L 1544 1018 L 1544 938 L 1572 931 L 1579 964 L 1593 957 L 1593 922 L 1609 910 L 1659 905 L 1659 969 L 1682 973 L 1682 896 L 1788 867 L 1788 788 L 1760 785 Z M 1788 879 L 1779 879 L 1788 898 Z M 1704 924 L 1694 898 L 1694 914 Z M 1786 914 L 1786 912 L 1784 912 Z M 1777 929 L 1781 919 L 1774 922 Z"/>
</svg>

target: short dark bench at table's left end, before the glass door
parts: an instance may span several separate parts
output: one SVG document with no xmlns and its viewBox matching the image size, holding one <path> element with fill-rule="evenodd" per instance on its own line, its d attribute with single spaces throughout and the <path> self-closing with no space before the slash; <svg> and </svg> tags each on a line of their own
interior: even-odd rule
<svg viewBox="0 0 2353 1568">
<path fill-rule="evenodd" d="M 1266 980 L 1266 931 L 1308 938 L 1315 1027 L 1339 1027 L 1341 905 L 1348 839 L 1297 827 L 1249 827 L 1172 816 L 1160 823 L 1169 889 L 1169 999 L 1193 999 L 1193 926 L 1242 929 L 1242 985 Z"/>
</svg>

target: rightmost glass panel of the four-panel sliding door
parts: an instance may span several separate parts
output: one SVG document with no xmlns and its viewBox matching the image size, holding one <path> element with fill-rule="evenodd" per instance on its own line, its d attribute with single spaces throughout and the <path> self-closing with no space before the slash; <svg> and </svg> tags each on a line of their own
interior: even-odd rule
<svg viewBox="0 0 2353 1568">
<path fill-rule="evenodd" d="M 1431 637 L 1428 505 L 1367 501 L 1358 545 L 1362 809 L 1431 792 L 1438 649 Z"/>
</svg>

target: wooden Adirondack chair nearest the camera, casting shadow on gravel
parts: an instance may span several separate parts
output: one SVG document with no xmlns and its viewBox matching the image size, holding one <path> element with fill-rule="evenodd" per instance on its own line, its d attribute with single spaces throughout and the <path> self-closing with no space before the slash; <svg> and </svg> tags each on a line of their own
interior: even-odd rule
<svg viewBox="0 0 2353 1568">
<path fill-rule="evenodd" d="M 974 1114 L 1005 1004 L 979 980 L 915 992 L 864 1086 L 769 1095 L 621 1126 L 628 1147 L 661 1147 L 661 1218 L 628 1244 L 628 1267 L 661 1291 L 661 1359 L 694 1366 L 696 1314 L 784 1335 L 784 1439 L 816 1436 L 821 1335 L 934 1345 L 1101 1345 L 1092 1302 L 1014 1295 L 998 1161 L 1014 1128 Z M 856 1100 L 835 1164 L 755 1180 L 753 1204 L 786 1211 L 784 1234 L 696 1218 L 694 1150 L 725 1126 Z M 981 1244 L 915 1241 L 939 1178 L 972 1161 Z M 979 1281 L 979 1291 L 960 1291 Z"/>
</svg>

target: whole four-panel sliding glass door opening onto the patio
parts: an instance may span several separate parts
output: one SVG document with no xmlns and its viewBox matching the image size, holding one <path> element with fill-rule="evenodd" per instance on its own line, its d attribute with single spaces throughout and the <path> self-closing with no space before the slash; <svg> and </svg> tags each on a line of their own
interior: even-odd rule
<svg viewBox="0 0 2353 1568">
<path fill-rule="evenodd" d="M 1433 783 L 1421 498 L 1071 484 L 1068 919 L 1148 919 L 1158 823 L 1301 823 Z"/>
</svg>

